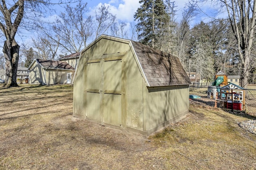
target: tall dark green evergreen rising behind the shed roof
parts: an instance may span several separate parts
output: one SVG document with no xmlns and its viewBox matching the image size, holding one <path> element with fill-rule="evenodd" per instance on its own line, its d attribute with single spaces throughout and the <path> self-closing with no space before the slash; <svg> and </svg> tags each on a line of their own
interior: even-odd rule
<svg viewBox="0 0 256 170">
<path fill-rule="evenodd" d="M 134 15 L 138 39 L 150 47 L 161 49 L 170 17 L 162 0 L 140 0 L 140 8 Z"/>
</svg>

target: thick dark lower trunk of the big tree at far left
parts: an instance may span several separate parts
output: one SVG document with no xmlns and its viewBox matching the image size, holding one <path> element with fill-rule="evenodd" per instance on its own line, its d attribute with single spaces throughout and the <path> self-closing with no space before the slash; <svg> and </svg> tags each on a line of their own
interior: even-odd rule
<svg viewBox="0 0 256 170">
<path fill-rule="evenodd" d="M 18 61 L 19 61 L 19 49 L 20 46 L 15 40 L 10 42 L 9 40 L 4 41 L 3 53 L 6 59 L 6 81 L 4 87 L 17 87 L 16 82 Z"/>
</svg>

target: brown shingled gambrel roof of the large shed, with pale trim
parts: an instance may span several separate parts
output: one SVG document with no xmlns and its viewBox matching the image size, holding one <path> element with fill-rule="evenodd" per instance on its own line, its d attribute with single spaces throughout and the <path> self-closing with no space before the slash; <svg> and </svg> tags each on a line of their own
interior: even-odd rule
<svg viewBox="0 0 256 170">
<path fill-rule="evenodd" d="M 83 49 L 81 54 L 92 47 L 92 45 L 100 41 L 100 39 L 109 39 L 122 43 L 128 43 L 135 54 L 134 57 L 136 62 L 138 62 L 138 66 L 142 71 L 142 76 L 144 77 L 146 86 L 148 87 L 191 84 L 190 79 L 178 57 L 129 39 L 101 35 L 98 39 Z M 79 63 L 80 59 L 78 62 L 78 67 L 80 65 Z"/>
</svg>

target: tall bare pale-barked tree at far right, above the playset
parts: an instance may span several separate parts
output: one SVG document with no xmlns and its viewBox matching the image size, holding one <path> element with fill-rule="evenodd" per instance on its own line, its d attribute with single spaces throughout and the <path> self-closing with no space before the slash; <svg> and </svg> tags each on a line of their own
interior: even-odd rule
<svg viewBox="0 0 256 170">
<path fill-rule="evenodd" d="M 256 20 L 255 0 L 192 0 L 194 2 L 214 2 L 218 4 L 218 10 L 226 12 L 236 39 L 236 49 L 242 63 L 241 86 L 247 88 L 252 60 L 252 42 Z M 221 5 L 221 6 L 219 6 Z"/>
</svg>

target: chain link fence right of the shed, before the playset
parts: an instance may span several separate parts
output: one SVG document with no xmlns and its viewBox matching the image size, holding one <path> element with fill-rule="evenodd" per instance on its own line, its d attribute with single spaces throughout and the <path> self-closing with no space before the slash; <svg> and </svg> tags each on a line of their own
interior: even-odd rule
<svg viewBox="0 0 256 170">
<path fill-rule="evenodd" d="M 242 90 L 192 86 L 189 98 L 190 106 L 218 107 L 256 115 L 256 86 Z"/>
</svg>

